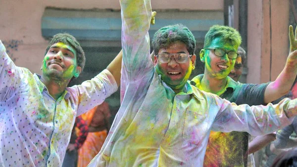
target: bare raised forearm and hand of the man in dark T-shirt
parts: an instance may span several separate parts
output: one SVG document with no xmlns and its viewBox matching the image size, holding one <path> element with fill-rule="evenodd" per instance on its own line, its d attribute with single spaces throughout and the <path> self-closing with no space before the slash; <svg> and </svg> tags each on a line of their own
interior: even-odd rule
<svg viewBox="0 0 297 167">
<path fill-rule="evenodd" d="M 287 58 L 285 68 L 276 78 L 275 81 L 271 82 L 265 91 L 264 102 L 270 103 L 276 99 L 286 95 L 296 78 L 297 74 L 297 27 L 295 29 L 295 35 L 293 32 L 293 26 L 289 27 L 289 38 L 290 38 L 290 54 Z"/>
</svg>

